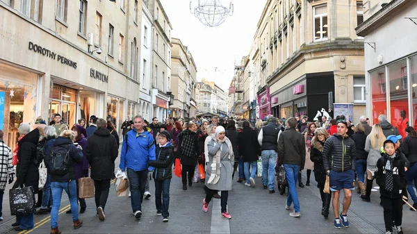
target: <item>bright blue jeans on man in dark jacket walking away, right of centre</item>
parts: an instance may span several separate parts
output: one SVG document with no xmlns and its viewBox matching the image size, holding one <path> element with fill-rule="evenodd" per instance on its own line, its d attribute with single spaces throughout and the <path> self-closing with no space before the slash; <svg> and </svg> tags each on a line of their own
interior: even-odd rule
<svg viewBox="0 0 417 234">
<path fill-rule="evenodd" d="M 297 195 L 297 180 L 300 173 L 300 165 L 284 164 L 285 174 L 288 181 L 288 197 L 287 206 L 291 206 L 294 203 L 294 211 L 300 212 L 300 202 Z"/>
</svg>

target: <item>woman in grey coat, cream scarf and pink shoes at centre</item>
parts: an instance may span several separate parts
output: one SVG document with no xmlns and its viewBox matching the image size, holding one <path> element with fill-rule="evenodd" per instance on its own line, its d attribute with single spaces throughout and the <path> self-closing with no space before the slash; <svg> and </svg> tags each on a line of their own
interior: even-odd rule
<svg viewBox="0 0 417 234">
<path fill-rule="evenodd" d="M 229 138 L 222 126 L 215 128 L 215 134 L 207 144 L 208 160 L 206 160 L 206 198 L 203 200 L 203 211 L 208 211 L 208 203 L 218 190 L 222 192 L 222 217 L 231 219 L 227 212 L 227 197 L 231 190 L 234 153 Z"/>
</svg>

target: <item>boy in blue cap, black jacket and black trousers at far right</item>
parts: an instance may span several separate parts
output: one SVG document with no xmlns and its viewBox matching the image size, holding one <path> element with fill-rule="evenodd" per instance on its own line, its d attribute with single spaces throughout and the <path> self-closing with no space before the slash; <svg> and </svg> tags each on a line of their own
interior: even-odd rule
<svg viewBox="0 0 417 234">
<path fill-rule="evenodd" d="M 402 191 L 406 189 L 407 178 L 404 162 L 398 153 L 395 153 L 395 143 L 401 136 L 390 135 L 384 142 L 384 153 L 377 162 L 375 178 L 379 185 L 381 203 L 384 207 L 384 222 L 386 233 L 392 233 L 393 228 L 402 234 Z M 393 226 L 393 219 L 395 226 Z"/>
</svg>

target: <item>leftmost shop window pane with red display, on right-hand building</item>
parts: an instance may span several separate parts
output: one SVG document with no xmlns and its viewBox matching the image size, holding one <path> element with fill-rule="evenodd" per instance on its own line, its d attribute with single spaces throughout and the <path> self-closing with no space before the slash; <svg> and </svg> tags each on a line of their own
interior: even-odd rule
<svg viewBox="0 0 417 234">
<path fill-rule="evenodd" d="M 382 67 L 369 74 L 373 124 L 379 122 L 379 115 L 386 115 L 386 78 L 384 72 L 385 68 Z"/>
</svg>

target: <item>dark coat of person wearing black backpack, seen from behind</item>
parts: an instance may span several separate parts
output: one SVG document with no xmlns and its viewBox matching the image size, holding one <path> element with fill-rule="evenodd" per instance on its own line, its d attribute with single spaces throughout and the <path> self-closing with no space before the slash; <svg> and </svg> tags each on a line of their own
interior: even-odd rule
<svg viewBox="0 0 417 234">
<path fill-rule="evenodd" d="M 56 138 L 54 142 L 54 148 L 55 147 L 63 147 L 67 149 L 68 156 L 70 156 L 67 168 L 68 172 L 65 175 L 57 175 L 57 174 L 51 174 L 51 182 L 70 182 L 72 180 L 75 180 L 75 163 L 76 162 L 82 162 L 83 161 L 83 151 L 79 148 L 77 148 L 74 144 L 72 144 L 72 141 L 68 139 L 67 137 L 58 137 Z M 50 169 L 52 167 L 51 165 L 51 159 L 52 154 L 54 153 L 54 148 L 52 149 L 51 153 L 48 155 L 45 155 L 45 165 Z"/>
</svg>

